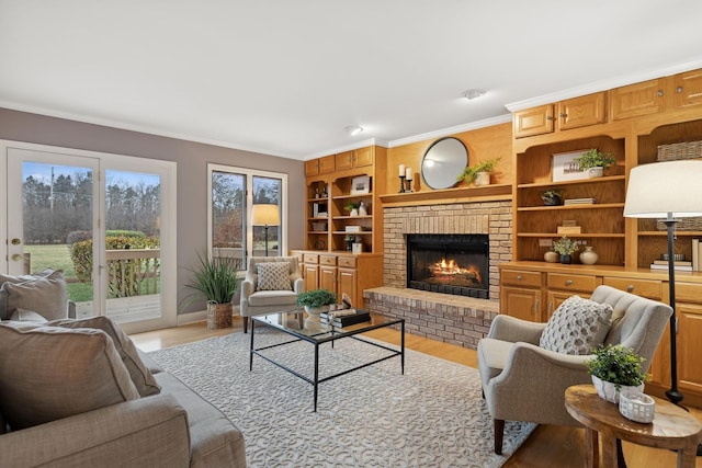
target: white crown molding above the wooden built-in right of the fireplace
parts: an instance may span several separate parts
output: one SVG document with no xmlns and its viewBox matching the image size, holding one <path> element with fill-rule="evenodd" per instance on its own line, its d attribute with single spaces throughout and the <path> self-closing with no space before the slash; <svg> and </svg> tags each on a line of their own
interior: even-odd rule
<svg viewBox="0 0 702 468">
<path fill-rule="evenodd" d="M 684 64 L 678 64 L 666 68 L 656 68 L 639 71 L 636 73 L 630 73 L 625 76 L 615 77 L 608 80 L 596 81 L 585 84 L 582 87 L 570 88 L 567 90 L 557 91 L 550 94 L 543 94 L 536 98 L 525 99 L 523 101 L 517 101 L 506 104 L 510 112 L 518 112 L 524 109 L 535 107 L 539 105 L 551 104 L 554 102 L 563 101 L 566 99 L 578 98 L 586 94 L 591 94 L 600 91 L 608 91 L 614 88 L 624 87 L 627 84 L 639 83 L 642 81 L 653 80 L 655 78 L 668 77 L 670 75 L 681 73 L 683 71 L 690 71 L 698 68 L 702 68 L 702 57 L 687 61 Z"/>
</svg>

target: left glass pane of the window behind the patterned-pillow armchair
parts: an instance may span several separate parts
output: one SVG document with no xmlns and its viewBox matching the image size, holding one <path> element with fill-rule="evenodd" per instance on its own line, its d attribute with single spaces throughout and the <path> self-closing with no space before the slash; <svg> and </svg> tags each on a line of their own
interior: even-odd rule
<svg viewBox="0 0 702 468">
<path fill-rule="evenodd" d="M 212 251 L 213 256 L 235 259 L 237 267 L 246 265 L 246 175 L 212 173 Z"/>
</svg>

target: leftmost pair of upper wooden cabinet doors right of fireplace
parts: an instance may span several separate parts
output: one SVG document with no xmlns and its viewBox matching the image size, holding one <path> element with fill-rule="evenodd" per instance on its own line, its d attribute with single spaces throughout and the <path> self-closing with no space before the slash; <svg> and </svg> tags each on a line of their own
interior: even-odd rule
<svg viewBox="0 0 702 468">
<path fill-rule="evenodd" d="M 607 93 L 599 92 L 516 112 L 514 138 L 532 137 L 607 122 Z"/>
</svg>

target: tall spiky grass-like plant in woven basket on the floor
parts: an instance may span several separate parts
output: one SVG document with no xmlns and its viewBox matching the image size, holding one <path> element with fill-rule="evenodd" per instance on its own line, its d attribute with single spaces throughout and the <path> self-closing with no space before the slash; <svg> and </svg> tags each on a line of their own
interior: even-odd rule
<svg viewBox="0 0 702 468">
<path fill-rule="evenodd" d="M 193 270 L 194 278 L 185 284 L 193 289 L 186 301 L 207 300 L 207 328 L 231 327 L 231 299 L 239 286 L 235 259 L 197 254 L 200 265 Z"/>
</svg>

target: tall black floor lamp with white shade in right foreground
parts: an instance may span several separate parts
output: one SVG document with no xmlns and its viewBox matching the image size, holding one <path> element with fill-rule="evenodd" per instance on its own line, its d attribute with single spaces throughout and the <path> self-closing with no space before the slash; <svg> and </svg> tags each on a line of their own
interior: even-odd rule
<svg viewBox="0 0 702 468">
<path fill-rule="evenodd" d="M 678 317 L 673 262 L 675 226 L 679 218 L 702 216 L 702 160 L 682 160 L 642 164 L 632 169 L 626 189 L 624 216 L 663 218 L 668 231 L 668 285 L 670 288 L 670 389 L 666 397 L 682 401 L 678 390 Z M 698 447 L 698 455 L 699 455 Z"/>
</svg>

